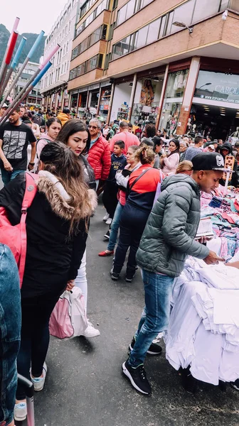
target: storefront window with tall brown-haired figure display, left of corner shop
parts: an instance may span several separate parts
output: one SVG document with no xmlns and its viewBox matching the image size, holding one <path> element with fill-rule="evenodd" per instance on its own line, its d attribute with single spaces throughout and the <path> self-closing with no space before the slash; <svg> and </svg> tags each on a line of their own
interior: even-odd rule
<svg viewBox="0 0 239 426">
<path fill-rule="evenodd" d="M 132 124 L 156 124 L 164 74 L 137 79 L 132 108 Z"/>
</svg>

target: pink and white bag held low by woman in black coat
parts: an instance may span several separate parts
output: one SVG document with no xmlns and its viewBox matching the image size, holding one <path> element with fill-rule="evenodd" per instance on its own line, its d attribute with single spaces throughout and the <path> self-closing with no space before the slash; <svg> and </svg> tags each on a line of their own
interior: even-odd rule
<svg viewBox="0 0 239 426">
<path fill-rule="evenodd" d="M 65 291 L 55 305 L 49 322 L 52 336 L 59 339 L 71 339 L 81 336 L 87 328 L 87 317 L 82 291 L 73 287 Z"/>
</svg>

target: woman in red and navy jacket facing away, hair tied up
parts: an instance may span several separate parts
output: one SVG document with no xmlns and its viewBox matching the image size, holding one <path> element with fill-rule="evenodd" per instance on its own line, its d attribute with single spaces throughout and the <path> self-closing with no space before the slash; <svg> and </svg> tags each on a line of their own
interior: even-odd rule
<svg viewBox="0 0 239 426">
<path fill-rule="evenodd" d="M 128 196 L 120 218 L 119 241 L 111 271 L 112 280 L 118 280 L 129 249 L 125 277 L 127 283 L 131 283 L 134 278 L 139 241 L 154 203 L 157 185 L 161 182 L 161 176 L 164 177 L 153 168 L 155 155 L 152 148 L 145 145 L 140 147 L 134 153 L 134 158 L 142 165 L 129 176 Z"/>
</svg>

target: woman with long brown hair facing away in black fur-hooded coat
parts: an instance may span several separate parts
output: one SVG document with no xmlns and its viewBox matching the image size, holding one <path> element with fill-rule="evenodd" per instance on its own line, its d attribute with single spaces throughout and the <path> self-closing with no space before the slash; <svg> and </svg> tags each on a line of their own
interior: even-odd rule
<svg viewBox="0 0 239 426">
<path fill-rule="evenodd" d="M 26 266 L 21 288 L 21 348 L 18 373 L 41 391 L 46 378 L 49 319 L 61 293 L 71 290 L 85 251 L 92 214 L 83 171 L 63 143 L 48 143 L 41 151 L 37 192 L 26 218 Z M 26 188 L 21 173 L 0 192 L 12 225 L 21 220 Z M 26 394 L 18 385 L 15 420 L 26 418 Z"/>
</svg>

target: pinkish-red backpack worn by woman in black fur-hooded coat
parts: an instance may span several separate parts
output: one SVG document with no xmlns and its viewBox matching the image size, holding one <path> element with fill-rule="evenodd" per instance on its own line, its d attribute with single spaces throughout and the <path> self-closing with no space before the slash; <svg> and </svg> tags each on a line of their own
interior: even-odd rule
<svg viewBox="0 0 239 426">
<path fill-rule="evenodd" d="M 0 207 L 0 243 L 9 246 L 14 253 L 18 264 L 20 288 L 26 263 L 26 214 L 36 195 L 36 180 L 38 180 L 37 175 L 26 172 L 26 190 L 21 205 L 21 221 L 19 224 L 13 226 L 7 217 L 6 209 Z"/>
</svg>

